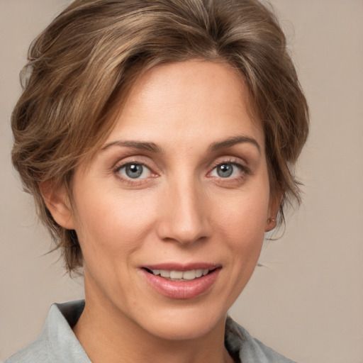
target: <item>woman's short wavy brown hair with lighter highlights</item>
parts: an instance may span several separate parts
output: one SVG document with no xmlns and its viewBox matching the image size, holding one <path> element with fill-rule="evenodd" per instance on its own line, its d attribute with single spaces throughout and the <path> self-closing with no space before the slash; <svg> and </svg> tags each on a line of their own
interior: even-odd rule
<svg viewBox="0 0 363 363">
<path fill-rule="evenodd" d="M 12 115 L 12 160 L 69 272 L 82 266 L 74 230 L 57 225 L 40 194 L 72 193 L 74 169 L 104 142 L 125 96 L 155 65 L 228 62 L 262 121 L 272 191 L 300 202 L 291 169 L 308 135 L 308 106 L 274 13 L 257 0 L 76 0 L 36 38 Z"/>
</svg>

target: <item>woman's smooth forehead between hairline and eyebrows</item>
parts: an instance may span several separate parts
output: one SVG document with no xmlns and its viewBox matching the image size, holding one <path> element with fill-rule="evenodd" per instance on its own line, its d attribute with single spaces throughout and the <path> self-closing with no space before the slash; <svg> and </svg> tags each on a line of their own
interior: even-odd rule
<svg viewBox="0 0 363 363">
<path fill-rule="evenodd" d="M 133 85 L 106 142 L 122 138 L 202 143 L 241 134 L 264 143 L 244 80 L 223 63 L 193 60 L 145 72 Z"/>
</svg>

